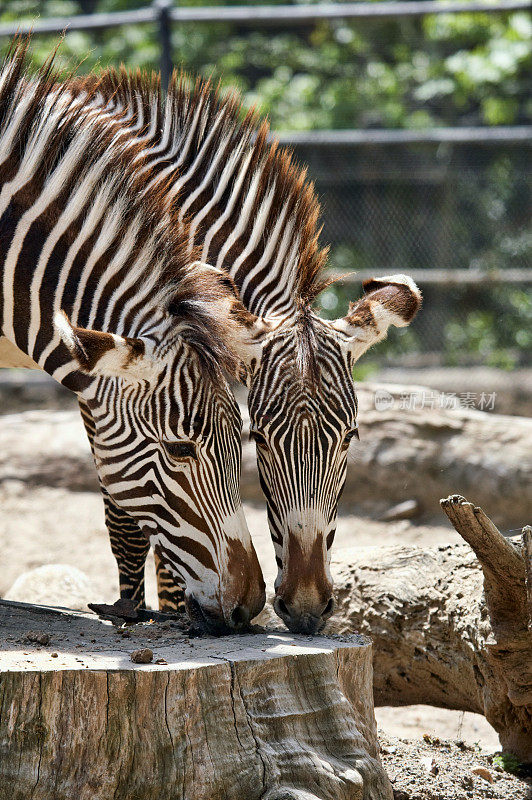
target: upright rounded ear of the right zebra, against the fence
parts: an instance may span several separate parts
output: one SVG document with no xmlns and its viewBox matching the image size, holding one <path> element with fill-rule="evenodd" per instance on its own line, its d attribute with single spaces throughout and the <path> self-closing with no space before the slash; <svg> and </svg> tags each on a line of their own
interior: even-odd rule
<svg viewBox="0 0 532 800">
<path fill-rule="evenodd" d="M 409 325 L 421 306 L 421 292 L 408 275 L 372 278 L 362 287 L 364 297 L 350 304 L 347 316 L 332 323 L 345 336 L 352 361 L 384 339 L 390 325 Z"/>
</svg>

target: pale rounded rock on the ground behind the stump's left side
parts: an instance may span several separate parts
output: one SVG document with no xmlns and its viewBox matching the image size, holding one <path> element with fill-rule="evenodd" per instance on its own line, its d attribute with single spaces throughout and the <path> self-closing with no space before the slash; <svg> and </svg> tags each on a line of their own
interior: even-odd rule
<svg viewBox="0 0 532 800">
<path fill-rule="evenodd" d="M 5 594 L 5 600 L 87 610 L 94 597 L 90 579 L 70 564 L 45 564 L 23 572 Z"/>
</svg>

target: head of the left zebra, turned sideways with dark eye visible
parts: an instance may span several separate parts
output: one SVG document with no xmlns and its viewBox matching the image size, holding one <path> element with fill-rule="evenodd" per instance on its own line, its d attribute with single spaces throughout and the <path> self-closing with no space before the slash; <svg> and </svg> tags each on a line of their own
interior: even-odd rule
<svg viewBox="0 0 532 800">
<path fill-rule="evenodd" d="M 265 586 L 240 499 L 241 416 L 217 364 L 230 367 L 227 352 L 202 341 L 201 309 L 183 323 L 180 305 L 134 338 L 75 326 L 62 312 L 54 324 L 73 375 L 93 378 L 70 388 L 91 411 L 103 486 L 185 585 L 193 623 L 222 633 L 261 611 Z M 208 313 L 229 336 L 234 320 L 214 305 Z"/>
</svg>

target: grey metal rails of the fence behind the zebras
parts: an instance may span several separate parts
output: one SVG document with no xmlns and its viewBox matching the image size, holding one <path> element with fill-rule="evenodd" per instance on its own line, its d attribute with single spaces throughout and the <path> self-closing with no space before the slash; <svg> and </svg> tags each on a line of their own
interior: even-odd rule
<svg viewBox="0 0 532 800">
<path fill-rule="evenodd" d="M 498 0 L 496 3 L 478 0 L 409 0 L 408 2 L 357 2 L 316 5 L 241 5 L 216 7 L 174 6 L 172 0 L 154 0 L 151 5 L 133 11 L 96 13 L 73 17 L 36 19 L 24 23 L 0 23 L 0 37 L 11 37 L 19 33 L 42 35 L 70 31 L 91 31 L 115 28 L 122 25 L 151 23 L 157 26 L 160 45 L 160 68 L 163 85 L 172 71 L 171 30 L 173 25 L 189 23 L 234 23 L 242 27 L 312 25 L 320 20 L 368 19 L 392 17 L 419 17 L 427 14 L 511 12 L 529 9 L 530 0 Z M 352 146 L 387 146 L 419 144 L 474 144 L 520 145 L 532 142 L 532 126 L 459 127 L 430 128 L 422 130 L 315 130 L 278 132 L 276 138 L 288 146 L 310 146 L 343 149 Z M 410 270 L 413 272 L 412 270 Z M 415 271 L 415 270 L 414 270 Z M 369 275 L 369 273 L 368 273 Z M 347 275 L 346 283 L 367 277 L 365 271 Z M 506 283 L 527 284 L 532 282 L 532 270 L 504 269 L 483 272 L 473 269 L 426 269 L 416 271 L 415 279 L 427 285 L 476 285 L 486 286 L 504 280 Z"/>
</svg>

